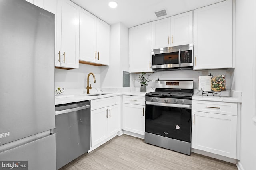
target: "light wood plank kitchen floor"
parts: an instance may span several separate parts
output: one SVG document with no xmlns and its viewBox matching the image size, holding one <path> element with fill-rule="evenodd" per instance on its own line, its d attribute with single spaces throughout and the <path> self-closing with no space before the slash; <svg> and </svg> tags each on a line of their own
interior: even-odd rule
<svg viewBox="0 0 256 170">
<path fill-rule="evenodd" d="M 143 139 L 114 137 L 60 170 L 237 170 L 235 164 L 192 153 L 191 156 L 144 143 Z"/>
</svg>

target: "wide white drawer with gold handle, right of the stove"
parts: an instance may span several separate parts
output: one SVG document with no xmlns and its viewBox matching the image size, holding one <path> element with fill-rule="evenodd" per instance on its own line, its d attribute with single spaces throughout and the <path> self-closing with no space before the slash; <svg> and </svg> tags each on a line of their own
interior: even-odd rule
<svg viewBox="0 0 256 170">
<path fill-rule="evenodd" d="M 207 112 L 207 113 L 218 113 L 218 114 L 236 116 L 237 103 L 193 100 L 192 111 L 201 111 L 201 112 Z"/>
</svg>

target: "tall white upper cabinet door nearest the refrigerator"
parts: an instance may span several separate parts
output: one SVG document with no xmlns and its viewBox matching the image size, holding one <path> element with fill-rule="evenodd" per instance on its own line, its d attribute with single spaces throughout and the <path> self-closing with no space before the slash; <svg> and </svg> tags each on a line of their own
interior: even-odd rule
<svg viewBox="0 0 256 170">
<path fill-rule="evenodd" d="M 70 0 L 62 0 L 61 66 L 78 68 L 80 8 Z M 58 49 L 57 49 L 58 50 Z"/>
</svg>

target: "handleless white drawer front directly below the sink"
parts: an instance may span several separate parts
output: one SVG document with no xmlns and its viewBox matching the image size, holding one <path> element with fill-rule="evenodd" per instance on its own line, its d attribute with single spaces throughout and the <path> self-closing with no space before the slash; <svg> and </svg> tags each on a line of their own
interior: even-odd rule
<svg viewBox="0 0 256 170">
<path fill-rule="evenodd" d="M 91 110 L 120 104 L 120 96 L 91 100 Z"/>
</svg>

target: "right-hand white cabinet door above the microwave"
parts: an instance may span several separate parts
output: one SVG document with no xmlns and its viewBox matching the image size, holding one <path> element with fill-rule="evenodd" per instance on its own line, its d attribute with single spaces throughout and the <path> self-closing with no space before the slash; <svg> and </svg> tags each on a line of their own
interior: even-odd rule
<svg viewBox="0 0 256 170">
<path fill-rule="evenodd" d="M 193 12 L 185 12 L 171 17 L 172 46 L 193 43 Z"/>
</svg>

